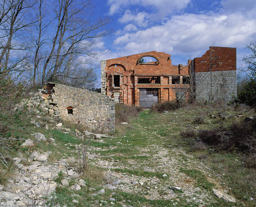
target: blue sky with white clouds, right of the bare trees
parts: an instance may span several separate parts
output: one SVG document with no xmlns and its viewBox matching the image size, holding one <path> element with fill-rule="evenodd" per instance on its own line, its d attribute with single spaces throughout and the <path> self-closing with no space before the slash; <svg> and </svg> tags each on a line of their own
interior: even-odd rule
<svg viewBox="0 0 256 207">
<path fill-rule="evenodd" d="M 98 42 L 99 61 L 159 51 L 186 65 L 209 46 L 237 48 L 237 68 L 256 41 L 256 0 L 95 0 L 114 32 Z"/>
</svg>

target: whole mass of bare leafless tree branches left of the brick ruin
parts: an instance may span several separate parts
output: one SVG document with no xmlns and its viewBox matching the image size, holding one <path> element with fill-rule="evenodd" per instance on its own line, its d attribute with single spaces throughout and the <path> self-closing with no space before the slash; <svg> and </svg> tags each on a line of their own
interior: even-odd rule
<svg viewBox="0 0 256 207">
<path fill-rule="evenodd" d="M 110 19 L 95 19 L 91 0 L 0 0 L 0 7 L 1 74 L 33 84 L 95 81 L 96 45 L 110 34 Z"/>
</svg>

